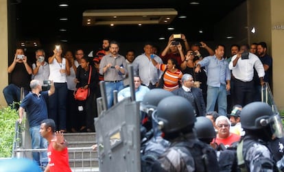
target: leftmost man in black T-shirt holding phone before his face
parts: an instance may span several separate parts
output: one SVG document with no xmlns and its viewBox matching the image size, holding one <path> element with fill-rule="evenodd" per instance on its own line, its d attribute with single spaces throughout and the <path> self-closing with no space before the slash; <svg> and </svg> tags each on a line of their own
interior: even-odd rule
<svg viewBox="0 0 284 172">
<path fill-rule="evenodd" d="M 32 68 L 27 63 L 23 48 L 17 48 L 12 64 L 8 67 L 10 73 L 10 84 L 3 89 L 3 95 L 12 106 L 13 102 L 21 101 L 21 87 L 25 89 L 25 95 L 29 93 L 29 82 L 31 80 Z M 12 108 L 16 108 L 13 107 Z"/>
</svg>

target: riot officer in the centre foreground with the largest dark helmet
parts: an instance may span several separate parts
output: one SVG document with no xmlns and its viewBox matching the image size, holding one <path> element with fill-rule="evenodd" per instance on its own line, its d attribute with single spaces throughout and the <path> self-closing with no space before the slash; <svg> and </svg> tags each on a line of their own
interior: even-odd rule
<svg viewBox="0 0 284 172">
<path fill-rule="evenodd" d="M 210 171 L 208 145 L 198 140 L 193 132 L 196 115 L 187 99 L 171 96 L 161 100 L 152 117 L 171 143 L 156 160 L 152 171 Z"/>
</svg>

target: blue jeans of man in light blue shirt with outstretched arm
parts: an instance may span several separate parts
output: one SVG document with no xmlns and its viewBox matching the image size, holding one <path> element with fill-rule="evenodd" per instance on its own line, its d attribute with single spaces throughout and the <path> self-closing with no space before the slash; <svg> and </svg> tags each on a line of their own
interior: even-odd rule
<svg viewBox="0 0 284 172">
<path fill-rule="evenodd" d="M 207 86 L 207 106 L 206 112 L 214 111 L 217 100 L 218 113 L 226 116 L 227 114 L 227 91 L 226 85 L 220 87 Z"/>
</svg>

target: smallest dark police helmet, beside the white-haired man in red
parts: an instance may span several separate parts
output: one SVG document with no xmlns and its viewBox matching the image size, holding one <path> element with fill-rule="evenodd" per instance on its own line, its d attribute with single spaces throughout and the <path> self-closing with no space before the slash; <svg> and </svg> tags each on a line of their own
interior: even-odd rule
<svg viewBox="0 0 284 172">
<path fill-rule="evenodd" d="M 196 117 L 196 123 L 194 123 L 194 129 L 199 139 L 212 139 L 216 137 L 216 132 L 213 127 L 213 123 L 205 116 Z"/>
</svg>

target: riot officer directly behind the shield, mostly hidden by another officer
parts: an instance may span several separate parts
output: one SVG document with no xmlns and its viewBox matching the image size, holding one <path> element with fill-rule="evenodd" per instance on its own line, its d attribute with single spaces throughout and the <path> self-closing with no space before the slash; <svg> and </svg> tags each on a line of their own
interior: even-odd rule
<svg viewBox="0 0 284 172">
<path fill-rule="evenodd" d="M 144 96 L 141 102 L 141 171 L 148 172 L 152 168 L 153 162 L 160 156 L 169 142 L 161 137 L 156 121 L 152 120 L 152 112 L 156 110 L 158 103 L 165 97 L 174 95 L 173 93 L 154 88 Z"/>
</svg>

